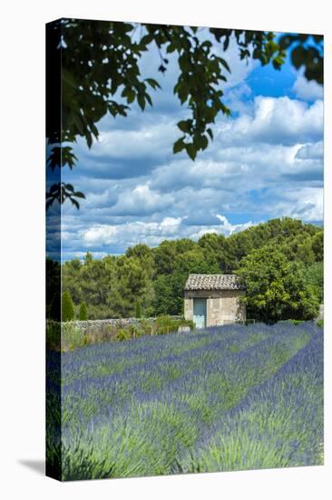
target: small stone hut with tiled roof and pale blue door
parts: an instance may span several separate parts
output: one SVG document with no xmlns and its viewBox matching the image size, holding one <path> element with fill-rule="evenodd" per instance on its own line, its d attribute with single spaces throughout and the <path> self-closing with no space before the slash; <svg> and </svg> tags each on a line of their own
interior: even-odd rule
<svg viewBox="0 0 332 500">
<path fill-rule="evenodd" d="M 246 294 L 237 275 L 189 275 L 184 287 L 184 317 L 196 328 L 227 325 L 246 319 Z"/>
</svg>

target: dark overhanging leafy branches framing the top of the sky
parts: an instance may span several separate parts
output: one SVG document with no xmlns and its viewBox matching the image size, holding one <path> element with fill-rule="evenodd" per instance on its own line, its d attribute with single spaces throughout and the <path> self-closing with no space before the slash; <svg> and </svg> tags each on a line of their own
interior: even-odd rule
<svg viewBox="0 0 332 500">
<path fill-rule="evenodd" d="M 292 34 L 277 37 L 272 32 L 210 28 L 199 35 L 194 26 L 148 25 L 60 19 L 47 25 L 46 136 L 50 154 L 48 165 L 54 170 L 77 158 L 73 143 L 77 136 L 91 147 L 97 139 L 97 124 L 106 114 L 126 116 L 137 103 L 142 111 L 152 105 L 151 90 L 161 88 L 157 80 L 141 74 L 142 55 L 157 45 L 160 54 L 158 71 L 167 71 L 169 57 L 179 65 L 179 76 L 173 93 L 189 116 L 178 122 L 181 136 L 173 153 L 185 151 L 192 160 L 213 139 L 212 127 L 219 113 L 230 115 L 223 102 L 221 84 L 227 81 L 231 68 L 223 57 L 234 36 L 242 59 L 257 59 L 261 65 L 271 63 L 275 69 L 284 64 L 287 51 L 292 64 L 304 66 L 308 80 L 323 82 L 323 36 Z M 215 50 L 211 39 L 220 45 Z M 61 70 L 61 85 L 57 85 Z M 58 98 L 62 98 L 59 106 Z M 47 193 L 46 206 L 69 198 L 79 208 L 83 198 L 73 185 L 57 183 Z"/>
</svg>

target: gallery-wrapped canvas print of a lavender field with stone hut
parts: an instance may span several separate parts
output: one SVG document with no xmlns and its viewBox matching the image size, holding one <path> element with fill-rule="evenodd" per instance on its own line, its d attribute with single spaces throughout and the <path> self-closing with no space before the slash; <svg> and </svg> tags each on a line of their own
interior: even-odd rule
<svg viewBox="0 0 332 500">
<path fill-rule="evenodd" d="M 323 464 L 323 49 L 46 25 L 47 475 Z"/>
</svg>

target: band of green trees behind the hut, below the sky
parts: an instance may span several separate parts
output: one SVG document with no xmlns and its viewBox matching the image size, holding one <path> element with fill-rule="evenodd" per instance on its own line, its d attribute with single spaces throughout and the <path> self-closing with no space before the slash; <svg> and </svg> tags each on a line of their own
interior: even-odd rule
<svg viewBox="0 0 332 500">
<path fill-rule="evenodd" d="M 59 271 L 60 265 L 50 261 L 48 268 Z M 64 263 L 61 272 L 77 315 L 84 302 L 89 318 L 181 315 L 190 273 L 236 273 L 247 285 L 249 317 L 308 319 L 323 301 L 323 230 L 273 219 L 229 237 L 206 234 L 198 242 L 181 238 L 156 248 L 140 244 L 100 260 L 88 253 L 83 262 Z M 57 279 L 50 284 L 58 285 Z"/>
</svg>

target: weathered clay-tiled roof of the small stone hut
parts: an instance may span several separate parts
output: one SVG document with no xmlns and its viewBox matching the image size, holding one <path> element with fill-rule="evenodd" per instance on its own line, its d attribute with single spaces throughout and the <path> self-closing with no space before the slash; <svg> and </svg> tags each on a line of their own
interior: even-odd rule
<svg viewBox="0 0 332 500">
<path fill-rule="evenodd" d="M 189 275 L 185 290 L 245 290 L 237 275 Z"/>
</svg>

